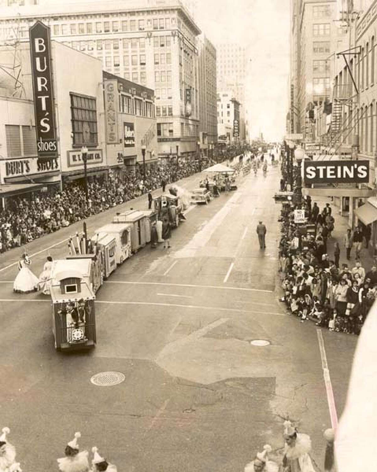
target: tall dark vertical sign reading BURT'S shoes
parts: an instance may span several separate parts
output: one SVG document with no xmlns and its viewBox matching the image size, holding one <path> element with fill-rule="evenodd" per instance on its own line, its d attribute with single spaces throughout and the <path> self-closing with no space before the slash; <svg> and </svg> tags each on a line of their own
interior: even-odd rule
<svg viewBox="0 0 377 472">
<path fill-rule="evenodd" d="M 40 159 L 57 157 L 55 110 L 52 94 L 50 28 L 37 21 L 29 30 L 35 127 Z"/>
</svg>

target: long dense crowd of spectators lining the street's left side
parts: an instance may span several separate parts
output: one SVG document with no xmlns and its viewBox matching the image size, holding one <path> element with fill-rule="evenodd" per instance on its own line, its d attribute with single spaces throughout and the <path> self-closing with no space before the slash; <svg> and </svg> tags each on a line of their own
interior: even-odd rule
<svg viewBox="0 0 377 472">
<path fill-rule="evenodd" d="M 122 177 L 88 182 L 88 200 L 83 182 L 66 185 L 63 190 L 13 197 L 0 214 L 0 252 L 21 246 L 46 233 L 128 202 L 163 184 L 195 174 L 199 161 L 171 162 L 151 170 L 136 168 Z M 210 164 L 210 163 L 209 163 Z"/>
</svg>

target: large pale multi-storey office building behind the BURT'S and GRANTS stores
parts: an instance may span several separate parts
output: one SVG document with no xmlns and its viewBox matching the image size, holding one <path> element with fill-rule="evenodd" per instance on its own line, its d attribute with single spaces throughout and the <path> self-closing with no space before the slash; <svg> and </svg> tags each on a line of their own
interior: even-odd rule
<svg viewBox="0 0 377 472">
<path fill-rule="evenodd" d="M 154 89 L 159 157 L 197 155 L 201 31 L 178 0 L 1 8 L 0 43 L 28 41 L 36 20 L 51 27 L 55 41 L 102 59 L 107 72 Z"/>
</svg>

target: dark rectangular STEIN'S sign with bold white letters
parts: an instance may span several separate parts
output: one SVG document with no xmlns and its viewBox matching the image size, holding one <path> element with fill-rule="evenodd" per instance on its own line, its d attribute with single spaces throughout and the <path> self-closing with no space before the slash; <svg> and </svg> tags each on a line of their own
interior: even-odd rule
<svg viewBox="0 0 377 472">
<path fill-rule="evenodd" d="M 369 182 L 368 160 L 304 161 L 304 182 L 312 184 L 361 184 Z"/>
</svg>

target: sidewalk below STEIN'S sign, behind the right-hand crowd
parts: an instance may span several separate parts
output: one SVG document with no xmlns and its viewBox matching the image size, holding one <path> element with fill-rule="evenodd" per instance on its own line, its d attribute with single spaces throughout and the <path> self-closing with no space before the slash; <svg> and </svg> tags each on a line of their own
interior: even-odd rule
<svg viewBox="0 0 377 472">
<path fill-rule="evenodd" d="M 340 247 L 339 268 L 342 269 L 342 264 L 347 263 L 348 267 L 352 269 L 352 267 L 355 267 L 355 250 L 353 248 L 351 249 L 351 259 L 347 261 L 346 249 L 344 247 L 344 235 L 349 228 L 348 216 L 340 216 L 339 207 L 333 204 L 330 197 L 313 197 L 312 206 L 314 202 L 317 202 L 319 211 L 323 210 L 323 208 L 326 206 L 326 203 L 330 203 L 332 209 L 331 214 L 335 219 L 332 237 L 327 239 L 327 253 L 330 256 L 330 261 L 334 261 L 334 243 L 337 241 Z M 370 244 L 371 243 L 369 242 L 369 247 Z M 362 267 L 364 267 L 365 271 L 368 272 L 368 270 L 370 270 L 373 265 L 373 257 L 365 247 L 365 240 L 363 241 L 363 248 L 360 251 L 360 260 Z"/>
</svg>

